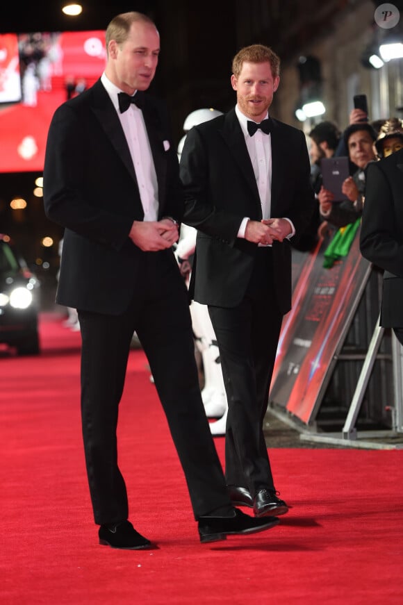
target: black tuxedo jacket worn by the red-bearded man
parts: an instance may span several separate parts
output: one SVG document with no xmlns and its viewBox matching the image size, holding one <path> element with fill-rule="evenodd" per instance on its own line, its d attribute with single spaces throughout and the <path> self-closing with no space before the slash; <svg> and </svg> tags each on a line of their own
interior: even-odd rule
<svg viewBox="0 0 403 605">
<path fill-rule="evenodd" d="M 315 207 L 304 133 L 272 119 L 271 216 L 293 221 L 296 234 Z M 262 219 L 261 201 L 235 108 L 194 126 L 181 154 L 184 222 L 197 230 L 190 295 L 201 304 L 232 307 L 245 295 L 256 244 L 237 237 L 243 217 Z M 291 306 L 290 242 L 274 242 L 274 284 L 282 313 Z"/>
</svg>

